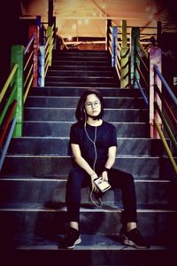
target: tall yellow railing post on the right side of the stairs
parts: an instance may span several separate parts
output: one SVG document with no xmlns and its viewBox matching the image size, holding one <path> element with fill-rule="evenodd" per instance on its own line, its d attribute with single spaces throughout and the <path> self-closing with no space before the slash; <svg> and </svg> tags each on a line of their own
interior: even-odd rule
<svg viewBox="0 0 177 266">
<path fill-rule="evenodd" d="M 120 88 L 128 86 L 127 20 L 122 20 L 122 45 L 120 51 Z"/>
</svg>

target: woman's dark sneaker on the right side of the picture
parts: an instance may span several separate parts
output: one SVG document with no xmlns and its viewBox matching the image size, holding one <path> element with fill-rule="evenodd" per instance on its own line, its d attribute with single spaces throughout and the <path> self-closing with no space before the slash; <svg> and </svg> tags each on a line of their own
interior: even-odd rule
<svg viewBox="0 0 177 266">
<path fill-rule="evenodd" d="M 150 248 L 148 242 L 142 237 L 137 228 L 127 231 L 123 239 L 123 244 L 127 246 L 134 246 L 136 248 Z"/>
</svg>

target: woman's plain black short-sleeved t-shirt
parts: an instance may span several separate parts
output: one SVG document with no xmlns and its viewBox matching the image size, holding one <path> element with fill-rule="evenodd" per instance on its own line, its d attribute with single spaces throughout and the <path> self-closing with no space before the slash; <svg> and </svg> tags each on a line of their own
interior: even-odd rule
<svg viewBox="0 0 177 266">
<path fill-rule="evenodd" d="M 96 168 L 104 168 L 109 147 L 117 146 L 116 128 L 111 123 L 103 121 L 97 127 L 90 126 L 87 123 L 85 129 L 80 122 L 74 123 L 70 131 L 70 144 L 80 146 L 81 156 L 89 163 L 91 168 L 93 168 L 95 159 Z M 94 145 L 95 137 L 96 142 Z"/>
</svg>

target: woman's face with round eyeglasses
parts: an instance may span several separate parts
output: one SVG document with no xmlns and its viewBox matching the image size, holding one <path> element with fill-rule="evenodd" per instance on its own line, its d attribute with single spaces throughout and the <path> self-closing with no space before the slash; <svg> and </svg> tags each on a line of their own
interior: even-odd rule
<svg viewBox="0 0 177 266">
<path fill-rule="evenodd" d="M 96 94 L 89 94 L 85 102 L 86 113 L 91 117 L 96 117 L 101 112 L 101 103 Z"/>
</svg>

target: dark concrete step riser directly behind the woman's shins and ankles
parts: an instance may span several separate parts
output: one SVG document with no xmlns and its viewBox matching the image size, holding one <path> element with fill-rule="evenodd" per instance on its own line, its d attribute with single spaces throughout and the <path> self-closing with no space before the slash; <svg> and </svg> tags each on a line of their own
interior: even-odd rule
<svg viewBox="0 0 177 266">
<path fill-rule="evenodd" d="M 119 234 L 122 210 L 112 207 L 81 207 L 81 234 Z M 0 206 L 1 236 L 56 236 L 65 233 L 66 209 L 36 203 Z M 158 243 L 172 243 L 177 237 L 177 211 L 165 209 L 137 209 L 138 227 L 144 237 Z M 163 221 L 163 223 L 162 223 Z"/>
</svg>

